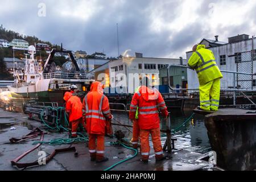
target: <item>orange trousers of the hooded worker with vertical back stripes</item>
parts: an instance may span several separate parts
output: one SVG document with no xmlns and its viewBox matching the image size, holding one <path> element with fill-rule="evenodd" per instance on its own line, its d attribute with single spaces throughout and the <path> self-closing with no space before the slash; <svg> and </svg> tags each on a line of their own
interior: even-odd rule
<svg viewBox="0 0 256 182">
<path fill-rule="evenodd" d="M 96 139 L 97 139 L 97 146 L 96 146 Z M 104 158 L 104 150 L 105 150 L 104 141 L 105 141 L 104 135 L 89 134 L 90 158 L 96 158 L 96 160 L 101 160 Z"/>
</svg>

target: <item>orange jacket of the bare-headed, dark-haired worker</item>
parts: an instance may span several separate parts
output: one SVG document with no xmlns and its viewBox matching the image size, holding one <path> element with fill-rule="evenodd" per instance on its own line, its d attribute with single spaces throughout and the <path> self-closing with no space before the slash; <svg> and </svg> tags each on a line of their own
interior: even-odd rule
<svg viewBox="0 0 256 182">
<path fill-rule="evenodd" d="M 164 117 L 168 116 L 166 103 L 162 95 L 155 88 L 149 89 L 146 86 L 141 86 L 139 91 L 134 94 L 129 112 L 130 119 L 135 119 L 137 107 L 139 107 L 139 128 L 142 130 L 157 129 L 160 127 L 158 109 L 160 109 Z"/>
</svg>

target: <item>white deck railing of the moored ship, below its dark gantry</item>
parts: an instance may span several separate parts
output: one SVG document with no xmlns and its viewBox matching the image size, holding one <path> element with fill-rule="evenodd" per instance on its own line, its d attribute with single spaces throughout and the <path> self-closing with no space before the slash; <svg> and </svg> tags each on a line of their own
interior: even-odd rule
<svg viewBox="0 0 256 182">
<path fill-rule="evenodd" d="M 44 73 L 42 74 L 44 79 L 76 79 L 76 80 L 92 80 L 92 75 L 88 73 Z"/>
</svg>

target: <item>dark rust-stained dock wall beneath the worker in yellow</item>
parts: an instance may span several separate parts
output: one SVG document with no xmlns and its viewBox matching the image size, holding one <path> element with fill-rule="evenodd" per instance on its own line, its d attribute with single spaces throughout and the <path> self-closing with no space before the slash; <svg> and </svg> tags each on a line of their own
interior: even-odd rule
<svg viewBox="0 0 256 182">
<path fill-rule="evenodd" d="M 205 117 L 217 166 L 242 171 L 256 168 L 256 113 L 248 111 L 221 109 Z"/>
</svg>

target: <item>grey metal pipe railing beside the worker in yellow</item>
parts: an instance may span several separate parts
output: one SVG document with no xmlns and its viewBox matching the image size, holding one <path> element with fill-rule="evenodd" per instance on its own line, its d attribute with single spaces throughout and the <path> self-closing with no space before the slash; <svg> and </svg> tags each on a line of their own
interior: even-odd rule
<svg viewBox="0 0 256 182">
<path fill-rule="evenodd" d="M 189 88 L 172 88 L 171 82 L 170 82 L 170 68 L 171 67 L 180 67 L 180 68 L 187 68 L 191 69 L 190 67 L 186 65 L 179 65 L 179 64 L 169 64 L 167 67 L 167 79 L 168 79 L 168 87 L 171 90 L 199 90 L 199 89 L 189 89 Z M 226 71 L 221 70 L 222 73 L 232 73 L 233 74 L 233 89 L 221 89 L 222 92 L 233 92 L 233 105 L 236 105 L 236 92 L 241 92 L 244 96 L 245 94 L 243 92 L 255 92 L 256 90 L 252 89 L 236 89 L 236 75 L 250 75 L 250 76 L 256 76 L 256 73 L 244 73 L 244 72 L 234 72 L 234 71 Z M 252 104 L 254 104 L 253 101 L 250 100 L 249 97 L 245 96 Z M 255 105 L 255 104 L 254 104 Z"/>
</svg>

